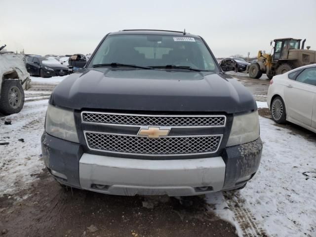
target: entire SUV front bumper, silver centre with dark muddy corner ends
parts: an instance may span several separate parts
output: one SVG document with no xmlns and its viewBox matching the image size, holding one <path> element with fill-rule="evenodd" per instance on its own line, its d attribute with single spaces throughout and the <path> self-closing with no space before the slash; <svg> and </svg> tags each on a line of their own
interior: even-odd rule
<svg viewBox="0 0 316 237">
<path fill-rule="evenodd" d="M 191 196 L 243 186 L 259 167 L 262 142 L 226 148 L 222 157 L 143 160 L 84 153 L 80 144 L 41 138 L 46 167 L 65 185 L 113 195 Z"/>
</svg>

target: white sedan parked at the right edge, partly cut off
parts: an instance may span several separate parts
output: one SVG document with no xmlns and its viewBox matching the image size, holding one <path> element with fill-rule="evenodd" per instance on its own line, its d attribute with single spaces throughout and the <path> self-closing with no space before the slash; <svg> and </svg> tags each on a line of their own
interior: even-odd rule
<svg viewBox="0 0 316 237">
<path fill-rule="evenodd" d="M 267 98 L 272 118 L 316 132 L 316 64 L 274 76 Z"/>
</svg>

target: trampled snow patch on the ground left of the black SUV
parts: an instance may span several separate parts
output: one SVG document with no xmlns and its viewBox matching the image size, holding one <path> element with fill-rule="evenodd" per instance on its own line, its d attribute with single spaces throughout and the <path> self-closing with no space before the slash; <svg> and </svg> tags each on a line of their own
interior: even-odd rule
<svg viewBox="0 0 316 237">
<path fill-rule="evenodd" d="M 40 157 L 40 136 L 44 130 L 44 118 L 48 100 L 25 102 L 19 114 L 7 116 L 12 125 L 4 125 L 0 119 L 0 196 L 26 187 L 44 168 Z M 24 139 L 24 142 L 19 141 Z"/>
</svg>

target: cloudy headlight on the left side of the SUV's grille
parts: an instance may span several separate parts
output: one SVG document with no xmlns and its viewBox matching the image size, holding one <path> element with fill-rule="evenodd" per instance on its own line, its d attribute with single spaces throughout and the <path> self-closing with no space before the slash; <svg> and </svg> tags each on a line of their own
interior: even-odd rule
<svg viewBox="0 0 316 237">
<path fill-rule="evenodd" d="M 79 143 L 73 111 L 48 105 L 45 131 L 54 137 Z"/>
</svg>

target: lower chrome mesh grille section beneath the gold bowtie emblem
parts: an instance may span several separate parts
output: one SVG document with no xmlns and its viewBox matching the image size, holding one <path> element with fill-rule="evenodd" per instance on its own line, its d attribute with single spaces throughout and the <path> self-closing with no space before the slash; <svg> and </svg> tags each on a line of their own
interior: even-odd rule
<svg viewBox="0 0 316 237">
<path fill-rule="evenodd" d="M 151 139 L 137 135 L 90 131 L 85 131 L 84 136 L 90 150 L 142 156 L 215 153 L 222 140 L 222 135 L 164 136 L 159 139 Z"/>
</svg>

